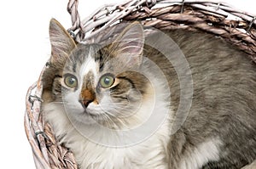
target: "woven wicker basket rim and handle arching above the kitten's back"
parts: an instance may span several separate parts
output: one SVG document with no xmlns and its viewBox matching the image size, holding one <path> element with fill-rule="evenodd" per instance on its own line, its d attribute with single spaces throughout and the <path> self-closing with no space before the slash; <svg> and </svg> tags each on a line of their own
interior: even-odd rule
<svg viewBox="0 0 256 169">
<path fill-rule="evenodd" d="M 207 31 L 235 44 L 256 63 L 256 14 L 237 9 L 229 3 L 212 0 L 126 0 L 97 8 L 84 20 L 80 20 L 77 6 L 78 0 L 70 0 L 67 7 L 73 23 L 67 31 L 76 42 L 90 42 L 91 38 L 98 37 L 100 32 L 119 22 L 139 20 L 144 26 L 160 29 Z M 168 26 L 167 22 L 177 24 Z"/>
</svg>

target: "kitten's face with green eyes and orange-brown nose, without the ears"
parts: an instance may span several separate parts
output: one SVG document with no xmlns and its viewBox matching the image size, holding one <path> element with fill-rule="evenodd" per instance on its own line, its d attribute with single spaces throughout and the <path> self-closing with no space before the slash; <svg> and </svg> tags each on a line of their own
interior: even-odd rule
<svg viewBox="0 0 256 169">
<path fill-rule="evenodd" d="M 67 59 L 54 90 L 61 90 L 59 98 L 74 120 L 119 125 L 136 118 L 148 82 L 136 71 L 120 69 L 115 57 L 108 48 L 79 45 Z"/>
</svg>

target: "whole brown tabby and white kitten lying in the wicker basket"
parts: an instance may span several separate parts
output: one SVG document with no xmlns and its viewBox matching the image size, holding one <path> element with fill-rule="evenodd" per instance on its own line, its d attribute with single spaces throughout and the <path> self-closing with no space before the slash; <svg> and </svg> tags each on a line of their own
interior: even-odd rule
<svg viewBox="0 0 256 169">
<path fill-rule="evenodd" d="M 183 54 L 138 23 L 101 45 L 76 44 L 50 21 L 42 109 L 79 168 L 235 169 L 256 159 L 256 66 L 218 37 L 165 33 Z M 165 54 L 184 55 L 189 69 Z"/>
</svg>

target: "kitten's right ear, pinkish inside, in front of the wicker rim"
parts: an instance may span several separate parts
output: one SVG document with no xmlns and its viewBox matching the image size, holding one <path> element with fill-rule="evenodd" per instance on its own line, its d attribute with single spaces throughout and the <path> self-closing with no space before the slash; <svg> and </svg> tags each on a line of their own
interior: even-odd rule
<svg viewBox="0 0 256 169">
<path fill-rule="evenodd" d="M 133 65 L 140 65 L 143 55 L 143 45 L 143 26 L 138 22 L 134 22 L 120 33 L 110 46 L 110 49 L 125 65 L 131 67 Z"/>
</svg>

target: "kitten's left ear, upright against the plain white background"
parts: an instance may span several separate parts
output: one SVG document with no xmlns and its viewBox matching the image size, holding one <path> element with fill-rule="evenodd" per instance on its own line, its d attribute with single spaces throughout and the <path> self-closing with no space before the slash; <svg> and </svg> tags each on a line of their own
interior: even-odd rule
<svg viewBox="0 0 256 169">
<path fill-rule="evenodd" d="M 51 61 L 67 59 L 76 43 L 65 28 L 55 19 L 49 22 L 49 40 L 51 44 Z"/>
</svg>

